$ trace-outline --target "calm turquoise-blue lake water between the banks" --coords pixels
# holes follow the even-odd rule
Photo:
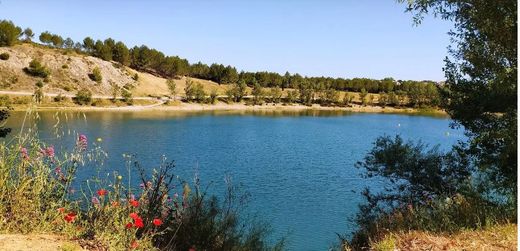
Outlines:
[[[126,173],[122,154],[128,153],[144,166],[156,166],[165,155],[181,176],[198,173],[216,191],[229,175],[250,193],[249,212],[270,222],[274,237],[286,236],[289,250],[327,250],[336,233],[355,228],[350,219],[362,202],[360,191],[377,184],[361,179],[354,164],[377,136],[400,134],[445,149],[463,137],[446,117],[399,114],[40,112],[40,134],[56,146],[57,117],[62,132],[103,139],[107,171]],[[14,113],[8,125],[16,129],[22,118]],[[75,138],[61,140],[70,145]]]

